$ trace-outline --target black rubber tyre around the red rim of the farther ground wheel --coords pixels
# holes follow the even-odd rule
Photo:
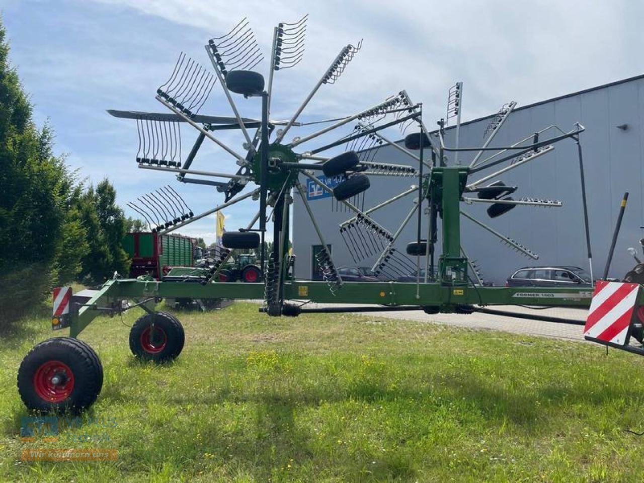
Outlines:
[[[167,337],[166,346],[155,354],[147,352],[141,345],[141,334],[153,320],[155,327],[164,330]],[[153,361],[155,363],[172,361],[181,354],[184,343],[184,327],[175,316],[167,312],[155,312],[154,314],[140,316],[129,331],[129,348],[135,357],[144,361]]]

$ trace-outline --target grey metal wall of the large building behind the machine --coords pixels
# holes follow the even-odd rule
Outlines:
[[[427,118],[426,114],[426,118]],[[610,276],[621,278],[634,261],[626,252],[627,247],[636,247],[644,233],[643,187],[643,117],[644,79],[609,84],[575,95],[560,97],[525,108],[517,108],[510,115],[492,146],[509,146],[516,140],[531,135],[551,124],[568,131],[575,122],[585,126],[582,147],[585,164],[587,195],[591,227],[594,276],[601,276],[611,243],[612,230],[618,215],[621,196],[629,191],[629,204],[621,227],[620,237],[612,261]],[[464,124],[460,129],[460,146],[480,146],[489,118]],[[428,122],[428,125],[430,123]],[[628,124],[626,130],[616,126]],[[556,135],[551,131],[551,135]],[[448,130],[446,145],[453,145],[453,130]],[[542,137],[543,139],[543,137]],[[462,164],[469,164],[473,155],[461,153]],[[400,164],[413,160],[393,149],[383,147],[377,153],[381,162]],[[478,179],[487,172],[473,175]],[[561,208],[518,206],[500,218],[490,220],[485,213],[485,204],[464,205],[462,209],[491,225],[497,231],[522,243],[540,254],[539,260],[531,260],[511,251],[497,238],[480,229],[469,220],[462,220],[462,243],[470,258],[478,261],[486,281],[496,285],[504,283],[514,270],[530,265],[578,265],[587,268],[583,234],[582,200],[576,146],[572,140],[556,144],[553,153],[544,155],[517,167],[498,179],[509,185],[518,185],[515,199],[524,197],[553,198],[563,202]],[[400,193],[417,181],[413,178],[372,176],[372,187],[366,192],[366,207],[378,204]],[[377,222],[390,231],[395,231],[412,207],[413,195],[403,198],[373,214]],[[332,245],[334,260],[338,266],[370,266],[375,258],[355,263],[348,253],[337,229],[338,223],[350,218],[351,213],[332,211],[330,198],[311,200],[316,220],[320,223],[327,243]],[[423,217],[423,233],[426,231]],[[294,251],[296,276],[311,277],[311,246],[317,236],[308,220],[301,201],[296,197],[294,205]],[[410,223],[399,239],[404,250],[407,242],[415,240],[415,222]],[[440,231],[439,231],[440,244]],[[640,251],[641,253],[641,251]]]

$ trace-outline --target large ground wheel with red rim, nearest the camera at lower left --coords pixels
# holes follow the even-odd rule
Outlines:
[[[40,412],[80,412],[94,403],[103,386],[103,368],[96,352],[71,337],[41,342],[18,370],[23,403]]]

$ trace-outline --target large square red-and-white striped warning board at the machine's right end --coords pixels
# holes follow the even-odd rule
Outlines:
[[[625,345],[639,287],[638,283],[598,280],[583,335],[598,341]]]

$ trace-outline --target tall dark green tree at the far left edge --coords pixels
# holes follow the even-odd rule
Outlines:
[[[0,313],[20,316],[51,288],[73,173],[52,154],[52,131],[37,129],[0,23]]]

